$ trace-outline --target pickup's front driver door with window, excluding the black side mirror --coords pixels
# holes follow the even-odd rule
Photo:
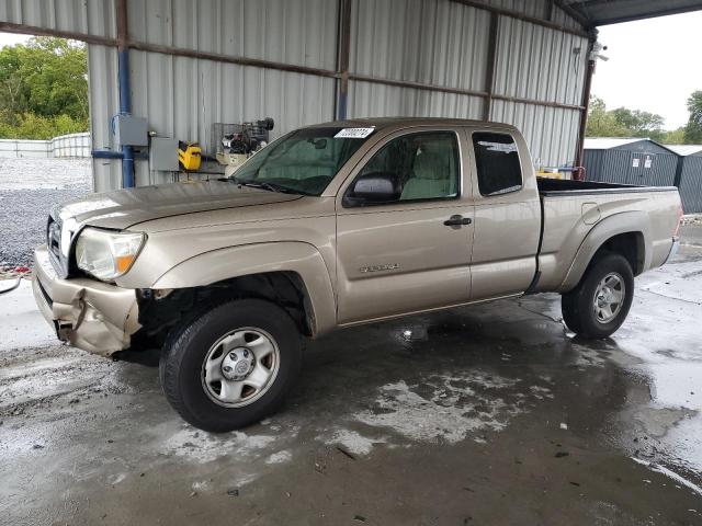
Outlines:
[[[474,206],[471,179],[463,176],[464,140],[460,128],[392,134],[341,186],[340,324],[468,301]],[[392,178],[401,188],[399,195],[384,203],[344,199],[356,178],[373,173]]]

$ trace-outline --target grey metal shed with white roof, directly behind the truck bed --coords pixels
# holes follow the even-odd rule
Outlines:
[[[584,165],[588,181],[672,186],[678,156],[650,139],[587,138]]]

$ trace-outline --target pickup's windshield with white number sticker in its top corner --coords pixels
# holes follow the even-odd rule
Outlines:
[[[234,179],[242,184],[319,195],[372,133],[373,128],[298,129],[256,153]]]

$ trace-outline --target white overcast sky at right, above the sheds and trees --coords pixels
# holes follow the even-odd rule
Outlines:
[[[667,129],[683,126],[688,96],[702,90],[702,12],[604,25],[599,32],[609,60],[598,60],[592,94],[609,110],[643,110],[661,115]]]

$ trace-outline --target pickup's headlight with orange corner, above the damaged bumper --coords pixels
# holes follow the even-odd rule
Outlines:
[[[76,242],[78,268],[98,279],[114,279],[129,270],[146,236],[86,228]]]

